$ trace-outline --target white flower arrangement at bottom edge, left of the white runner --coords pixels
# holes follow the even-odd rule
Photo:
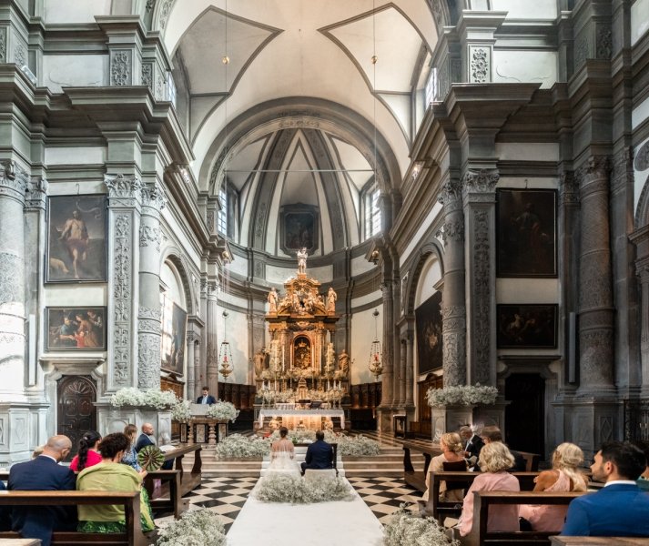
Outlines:
[[[207,508],[187,511],[157,531],[157,546],[225,546],[226,531],[217,514]]]

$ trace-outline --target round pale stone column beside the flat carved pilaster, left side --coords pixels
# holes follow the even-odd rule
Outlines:
[[[156,182],[142,187],[139,227],[139,307],[137,309],[137,387],[160,387],[160,210],[167,198]]]

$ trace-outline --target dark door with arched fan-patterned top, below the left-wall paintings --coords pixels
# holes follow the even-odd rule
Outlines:
[[[57,381],[58,422],[56,433],[72,440],[68,460],[76,455],[86,430],[96,430],[96,385],[87,376],[64,376]]]

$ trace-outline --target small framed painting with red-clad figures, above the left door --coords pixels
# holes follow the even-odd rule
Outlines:
[[[106,350],[106,308],[46,308],[46,350]]]

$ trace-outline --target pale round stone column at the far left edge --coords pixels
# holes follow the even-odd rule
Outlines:
[[[0,399],[4,402],[23,399],[25,394],[24,211],[27,183],[25,171],[13,161],[0,162]],[[8,423],[4,424],[8,435]]]

